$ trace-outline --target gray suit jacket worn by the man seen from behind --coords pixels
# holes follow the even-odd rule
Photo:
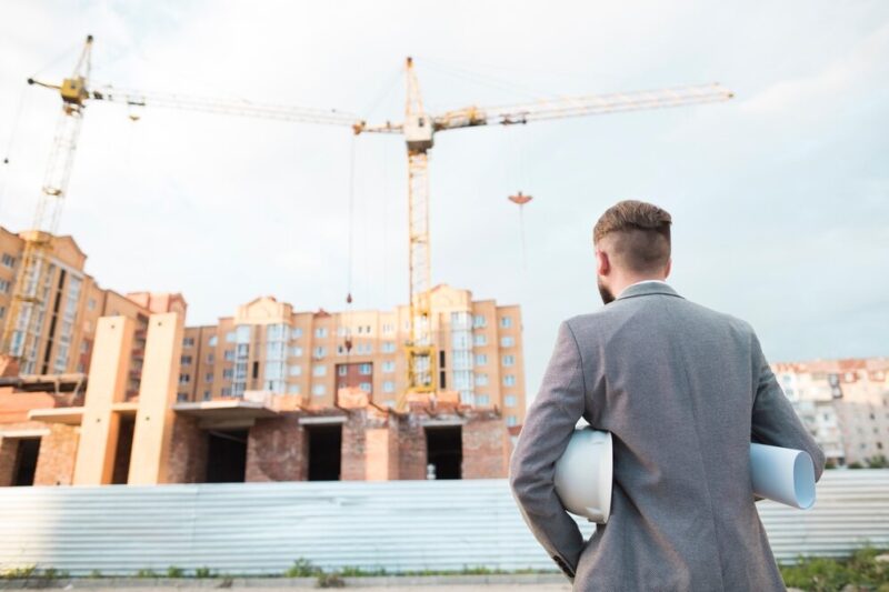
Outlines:
[[[611,432],[611,518],[583,541],[553,489],[583,417]],[[509,465],[531,532],[573,590],[783,590],[750,442],[825,456],[745,321],[639,283],[565,321]]]

